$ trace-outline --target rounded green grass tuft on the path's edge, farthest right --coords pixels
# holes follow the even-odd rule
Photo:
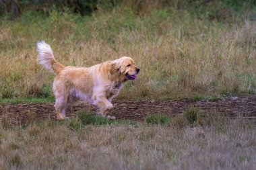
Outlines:
[[[183,114],[187,124],[190,126],[201,125],[206,122],[205,113],[199,110],[197,107],[189,107]]]

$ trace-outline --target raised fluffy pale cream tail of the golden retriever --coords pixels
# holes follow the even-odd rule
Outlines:
[[[40,65],[43,65],[53,74],[58,75],[64,69],[65,66],[55,60],[53,50],[49,44],[44,41],[37,42],[37,51]]]

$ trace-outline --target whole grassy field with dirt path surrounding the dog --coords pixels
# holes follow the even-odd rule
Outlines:
[[[0,169],[254,169],[255,2],[111,2],[15,19],[0,4]],[[131,56],[118,119],[79,102],[57,121],[38,40],[63,65]]]

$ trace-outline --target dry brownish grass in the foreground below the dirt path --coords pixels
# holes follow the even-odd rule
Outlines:
[[[77,120],[71,120],[77,121]],[[254,169],[249,120],[209,126],[86,125],[46,121],[0,128],[0,169]]]

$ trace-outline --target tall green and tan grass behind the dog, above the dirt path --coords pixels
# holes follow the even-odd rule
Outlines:
[[[63,65],[90,67],[119,56],[134,58],[141,72],[119,98],[256,93],[256,24],[251,17],[230,11],[228,17],[212,18],[210,7],[211,15],[199,15],[154,4],[140,15],[137,3],[127,4],[91,16],[51,10],[48,17],[25,11],[14,21],[2,19],[1,98],[53,95],[53,75],[36,61],[38,40],[51,44]]]

